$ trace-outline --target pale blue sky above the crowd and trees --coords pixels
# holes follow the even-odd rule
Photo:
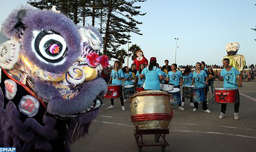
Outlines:
[[[0,23],[24,0],[1,1]],[[143,22],[138,25],[143,35],[131,33],[130,46],[137,44],[149,60],[154,56],[159,65],[164,60],[178,65],[205,61],[206,64],[221,65],[227,55],[226,45],[240,43],[237,54],[245,57],[246,65],[255,64],[256,1],[254,0],[147,0],[138,3],[145,16],[135,17]],[[127,50],[128,45],[120,49]],[[113,64],[113,62],[110,62]],[[129,60],[129,66],[132,60]],[[124,65],[127,65],[125,59]]]

